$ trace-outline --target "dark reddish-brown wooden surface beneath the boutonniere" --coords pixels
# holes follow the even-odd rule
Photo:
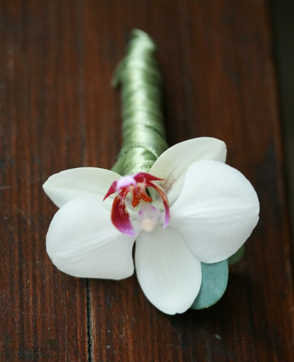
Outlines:
[[[52,173],[109,168],[120,148],[110,86],[132,28],[157,42],[170,145],[223,139],[261,220],[227,291],[169,316],[123,281],[69,277],[45,237]],[[290,362],[291,245],[269,4],[262,0],[0,2],[0,361]]]

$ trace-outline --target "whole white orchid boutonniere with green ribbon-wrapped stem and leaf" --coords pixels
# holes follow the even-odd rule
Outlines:
[[[152,39],[134,30],[116,70],[123,147],[113,169],[73,168],[44,184],[60,208],[46,243],[56,267],[75,277],[128,278],[135,262],[147,299],[175,314],[221,298],[227,259],[256,226],[259,201],[245,176],[225,164],[221,140],[168,148],[155,52]]]

